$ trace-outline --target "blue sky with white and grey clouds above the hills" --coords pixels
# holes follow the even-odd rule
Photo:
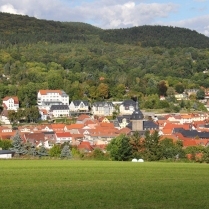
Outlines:
[[[0,11],[103,29],[175,26],[209,36],[209,0],[0,0]]]

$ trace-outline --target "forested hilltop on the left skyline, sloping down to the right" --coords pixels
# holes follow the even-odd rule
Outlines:
[[[101,29],[86,23],[39,20],[34,17],[0,12],[0,41],[17,43],[51,43],[86,40]]]

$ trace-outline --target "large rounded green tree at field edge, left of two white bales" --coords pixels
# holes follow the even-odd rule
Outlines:
[[[120,135],[108,144],[107,150],[110,152],[110,157],[113,160],[127,161],[132,158],[132,147],[129,143],[129,138],[125,135]]]

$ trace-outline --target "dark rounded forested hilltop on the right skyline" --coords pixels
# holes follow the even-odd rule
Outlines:
[[[101,39],[115,43],[140,44],[143,47],[161,46],[209,48],[209,37],[185,28],[168,26],[139,26],[103,31]]]

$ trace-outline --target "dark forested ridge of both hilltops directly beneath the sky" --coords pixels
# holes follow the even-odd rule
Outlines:
[[[101,41],[134,44],[142,47],[194,47],[209,48],[209,37],[185,28],[168,26],[139,26],[127,29],[102,30],[86,23],[56,22],[34,17],[0,13],[1,43],[66,43],[88,41],[99,37]]]

